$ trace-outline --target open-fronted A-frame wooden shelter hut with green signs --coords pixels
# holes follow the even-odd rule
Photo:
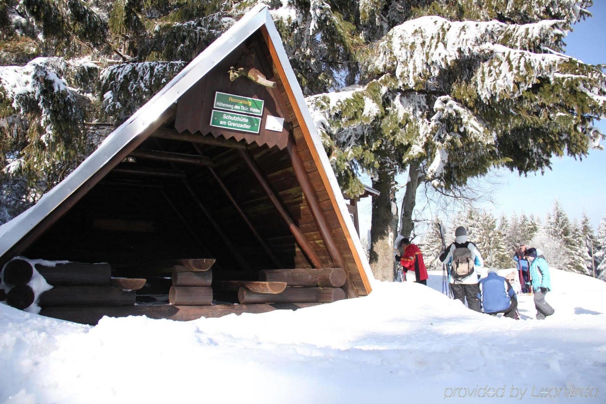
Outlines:
[[[292,309],[371,291],[365,252],[265,5],[3,231],[5,272],[27,267],[18,256],[70,261],[36,261],[55,286],[40,305],[82,323]]]

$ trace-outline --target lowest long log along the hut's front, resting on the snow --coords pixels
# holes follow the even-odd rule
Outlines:
[[[60,318],[70,322],[96,325],[101,317],[127,317],[129,315],[145,315],[148,318],[168,318],[170,320],[188,322],[201,317],[222,317],[228,314],[265,313],[274,310],[296,310],[322,303],[277,303],[273,305],[213,305],[213,306],[103,306],[81,308],[73,306],[43,308],[41,315]]]

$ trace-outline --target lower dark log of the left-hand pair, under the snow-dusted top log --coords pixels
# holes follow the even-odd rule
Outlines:
[[[135,291],[113,286],[55,286],[40,295],[40,307],[50,306],[133,306]]]

